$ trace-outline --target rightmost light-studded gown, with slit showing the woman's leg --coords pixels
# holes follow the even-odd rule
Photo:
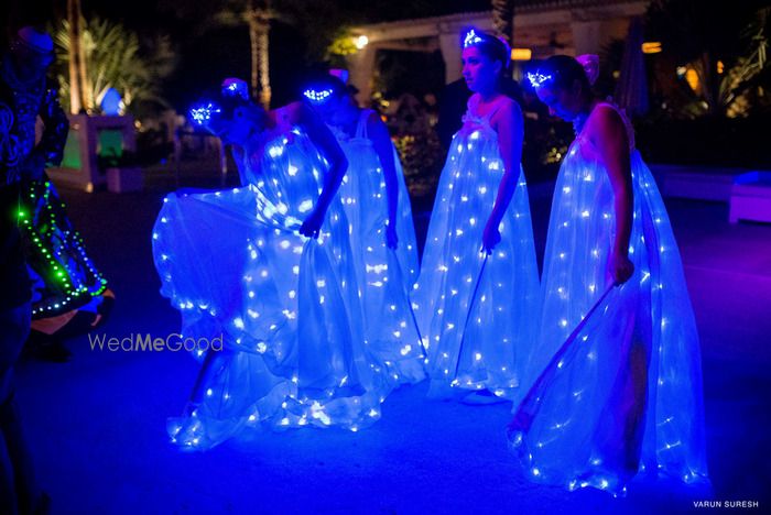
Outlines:
[[[631,169],[636,271],[621,287],[608,274],[613,193],[583,133],[560,171],[531,363],[537,381],[509,427],[512,448],[536,482],[621,494],[638,471],[706,481],[698,336],[683,266],[633,144]],[[608,288],[583,330],[563,344]]]

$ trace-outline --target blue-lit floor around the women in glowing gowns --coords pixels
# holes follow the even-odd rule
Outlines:
[[[534,188],[537,190],[537,188]],[[158,188],[141,195],[63,191],[117,293],[101,329],[164,336],[177,316],[158,294],[150,228]],[[547,200],[534,199],[543,246]],[[721,205],[673,201],[702,335],[709,465],[718,500],[765,501],[771,484],[771,227],[729,226]],[[19,398],[54,513],[673,513],[703,493],[632,487],[625,500],[530,484],[504,446],[509,406],[393,393],[358,434],[265,432],[248,449],[184,454],[165,418],[196,374],[183,353],[99,353],[69,342],[68,364],[25,362]]]

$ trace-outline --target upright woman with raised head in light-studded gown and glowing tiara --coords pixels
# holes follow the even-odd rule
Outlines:
[[[508,47],[475,30],[463,45],[474,95],[442,172],[413,300],[428,395],[491,403],[521,390],[537,265],[520,165],[522,112],[500,91]]]

